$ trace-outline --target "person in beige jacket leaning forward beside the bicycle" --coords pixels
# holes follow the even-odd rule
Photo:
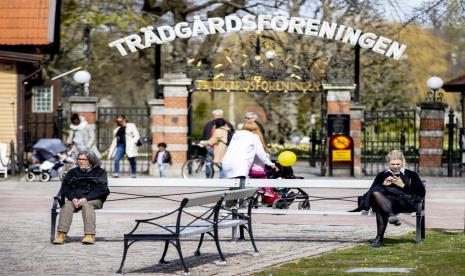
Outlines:
[[[208,140],[200,141],[200,144],[213,148],[213,162],[220,167],[233,134],[233,130],[229,128],[224,119],[215,119],[213,135]],[[220,178],[223,178],[223,169],[220,169]]]

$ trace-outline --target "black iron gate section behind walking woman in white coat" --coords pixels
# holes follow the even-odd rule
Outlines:
[[[99,107],[97,115],[97,141],[101,152],[108,151],[113,140],[113,129],[116,127],[116,116],[124,114],[129,122],[135,123],[142,141],[139,147],[137,173],[149,174],[152,157],[150,136],[150,108],[149,107]],[[102,158],[103,167],[107,172],[113,172],[114,160]],[[120,161],[120,174],[129,175],[130,166],[126,157]]]

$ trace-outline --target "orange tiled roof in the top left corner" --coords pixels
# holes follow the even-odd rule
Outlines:
[[[56,7],[56,0],[1,0],[0,45],[52,43]]]

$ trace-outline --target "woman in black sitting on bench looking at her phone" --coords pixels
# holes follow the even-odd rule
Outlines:
[[[384,232],[388,222],[395,226],[401,223],[395,214],[415,212],[416,205],[425,197],[425,186],[418,174],[405,169],[405,157],[400,150],[386,156],[388,170],[380,172],[368,195],[370,207],[376,212],[376,238],[372,247],[383,246]]]

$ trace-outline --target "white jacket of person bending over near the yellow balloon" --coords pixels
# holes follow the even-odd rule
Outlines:
[[[248,176],[255,157],[268,166],[273,164],[257,134],[247,130],[236,131],[222,162],[225,177]]]

